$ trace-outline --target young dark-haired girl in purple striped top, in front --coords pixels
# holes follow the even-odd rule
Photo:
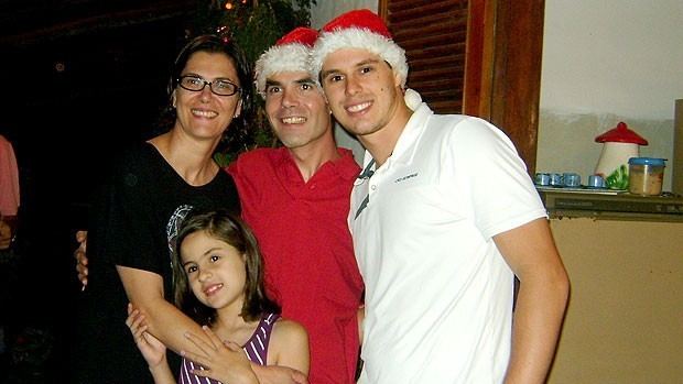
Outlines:
[[[261,255],[251,230],[225,211],[191,213],[172,256],[175,304],[203,328],[212,344],[187,333],[204,354],[182,352],[177,383],[258,383],[251,364],[308,373],[308,338],[280,317],[263,289]],[[165,347],[147,332],[144,315],[129,305],[126,323],[156,384],[176,383]]]

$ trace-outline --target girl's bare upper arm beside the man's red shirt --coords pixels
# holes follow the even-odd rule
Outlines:
[[[308,375],[308,333],[302,325],[282,318],[275,322],[268,347],[268,365],[289,366]]]

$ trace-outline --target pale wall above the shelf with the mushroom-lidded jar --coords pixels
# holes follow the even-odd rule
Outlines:
[[[641,155],[672,160],[683,1],[546,0],[544,25],[536,172],[587,178],[603,146],[595,136],[619,121],[650,142]]]

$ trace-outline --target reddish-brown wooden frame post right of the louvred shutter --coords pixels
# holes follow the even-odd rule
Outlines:
[[[387,20],[390,0],[379,0]],[[514,142],[535,171],[544,0],[469,0],[463,113],[481,117]]]

